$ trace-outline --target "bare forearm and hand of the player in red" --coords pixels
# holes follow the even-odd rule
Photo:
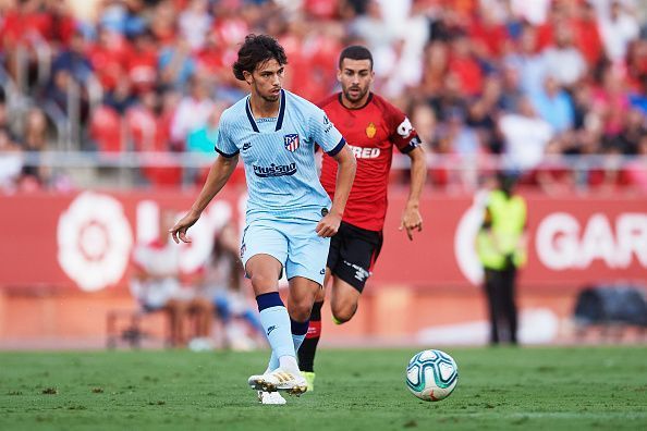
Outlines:
[[[400,221],[400,230],[406,230],[406,236],[413,241],[414,231],[423,230],[420,216],[420,195],[427,180],[427,160],[422,146],[417,146],[406,153],[411,159],[411,188],[408,199]]]

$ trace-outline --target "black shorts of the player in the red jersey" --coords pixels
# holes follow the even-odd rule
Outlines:
[[[341,222],[337,235],[330,239],[327,267],[359,293],[382,249],[382,233],[367,231]]]

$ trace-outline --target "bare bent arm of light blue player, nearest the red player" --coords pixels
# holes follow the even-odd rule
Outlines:
[[[347,145],[344,145],[332,158],[338,163],[334,198],[330,211],[319,221],[316,227],[317,234],[324,237],[333,236],[339,230],[355,180],[355,170],[357,169],[355,156],[353,156]]]

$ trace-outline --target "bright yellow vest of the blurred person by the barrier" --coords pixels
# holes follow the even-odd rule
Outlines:
[[[526,202],[521,196],[508,198],[501,190],[490,193],[488,209],[490,229],[481,229],[476,238],[478,257],[484,267],[503,269],[505,256],[512,255],[515,267],[526,262],[526,251],[518,247],[526,224]]]

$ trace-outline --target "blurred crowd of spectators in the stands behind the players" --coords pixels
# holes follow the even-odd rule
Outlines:
[[[222,110],[246,90],[231,73],[237,47],[267,33],[288,53],[284,86],[313,101],[338,88],[340,50],[366,45],[375,90],[428,146],[434,186],[475,187],[501,155],[547,192],[645,189],[645,159],[634,156],[647,156],[646,9],[639,0],[0,0],[0,187],[69,186],[23,164],[21,151],[211,155]],[[147,167],[141,176],[176,185],[204,172]]]

